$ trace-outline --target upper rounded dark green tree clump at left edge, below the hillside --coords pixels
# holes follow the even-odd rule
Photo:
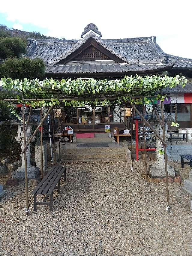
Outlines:
[[[0,58],[20,57],[26,53],[26,44],[20,38],[0,38]]]

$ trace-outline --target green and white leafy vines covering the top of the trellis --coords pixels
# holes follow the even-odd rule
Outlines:
[[[77,98],[64,99],[65,106],[85,106],[85,104],[100,104],[100,105],[114,105],[123,104],[128,99],[135,104],[142,104],[142,98],[156,92],[160,88],[174,87],[178,84],[184,86],[187,80],[183,76],[125,76],[121,80],[95,80],[95,79],[11,79],[2,77],[0,86],[8,91],[16,91],[23,93],[25,98],[42,99],[41,101],[33,101],[32,106],[52,106],[59,104],[59,100],[55,97],[54,91],[57,91],[63,98]],[[116,95],[116,99],[111,101],[109,95]],[[106,99],[101,101],[100,95],[106,95]],[[133,96],[137,96],[138,99],[133,99]],[[140,98],[141,97],[141,98]],[[20,96],[17,96],[18,102],[22,102]],[[87,99],[81,100],[82,98]],[[159,97],[163,100],[165,96]],[[50,100],[47,100],[50,99]],[[144,100],[145,100],[144,99]]]

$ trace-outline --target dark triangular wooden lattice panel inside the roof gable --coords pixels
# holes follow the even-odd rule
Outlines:
[[[74,60],[110,60],[110,58],[108,56],[106,56],[104,53],[102,53],[100,50],[98,50],[97,48],[95,48],[93,45],[90,45],[89,47],[87,47],[84,51],[82,51],[81,53],[79,53],[79,55],[77,55]]]

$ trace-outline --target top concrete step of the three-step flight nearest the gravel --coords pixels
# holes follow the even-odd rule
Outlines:
[[[75,148],[60,148],[61,155],[63,154],[79,154],[79,153],[124,153],[124,147],[75,147]]]

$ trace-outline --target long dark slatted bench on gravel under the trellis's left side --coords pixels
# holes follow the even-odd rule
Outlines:
[[[49,205],[49,211],[53,210],[53,190],[58,189],[61,192],[61,177],[66,181],[66,167],[61,165],[54,165],[46,176],[39,182],[37,187],[33,190],[33,210],[37,211],[37,205]],[[43,202],[37,202],[37,194],[46,195]],[[49,197],[49,202],[47,198]]]

